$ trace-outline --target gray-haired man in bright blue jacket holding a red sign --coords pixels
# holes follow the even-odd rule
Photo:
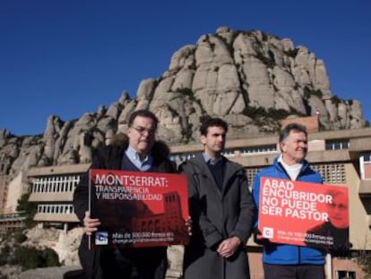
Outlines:
[[[296,123],[285,126],[280,132],[280,156],[272,166],[255,175],[253,195],[259,207],[260,179],[290,179],[322,183],[321,175],[309,167],[306,161],[306,127]],[[272,243],[264,239],[264,278],[324,279],[324,251],[317,248]]]

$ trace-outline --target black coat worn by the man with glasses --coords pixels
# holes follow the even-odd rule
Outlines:
[[[123,170],[122,158],[128,145],[128,138],[126,135],[116,137],[115,142],[111,145],[105,146],[94,155],[91,163],[91,169],[103,170]],[[169,154],[168,146],[162,142],[156,142],[151,150],[153,156],[153,167],[158,172],[174,173],[176,171],[175,165],[168,161]],[[76,187],[73,193],[73,207],[75,214],[83,222],[85,212],[89,208],[89,172],[87,172]],[[94,196],[94,195],[93,195]],[[91,201],[91,207],[94,207],[94,199]],[[99,247],[89,249],[89,238],[86,234],[82,236],[82,242],[79,248],[79,257],[82,263],[86,278],[88,279],[137,279],[137,278],[151,278],[163,279],[165,278],[167,268],[167,252],[166,248],[126,248],[125,253],[128,254],[131,261],[134,261],[136,266],[143,270],[154,270],[151,275],[138,277],[135,274],[125,275],[125,262],[122,268],[124,270],[117,270],[113,265],[115,260],[115,251],[112,248]],[[126,256],[125,256],[126,257]],[[135,259],[135,260],[134,260]],[[126,259],[127,260],[127,259]]]

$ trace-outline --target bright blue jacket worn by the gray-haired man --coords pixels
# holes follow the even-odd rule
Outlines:
[[[283,169],[278,158],[273,161],[272,166],[259,171],[255,175],[253,184],[253,196],[257,208],[259,208],[260,179],[262,177],[289,179],[289,175]],[[297,180],[323,183],[321,175],[312,170],[307,161],[303,162],[303,168]],[[263,245],[263,262],[272,265],[324,265],[324,251],[311,247],[268,242]]]

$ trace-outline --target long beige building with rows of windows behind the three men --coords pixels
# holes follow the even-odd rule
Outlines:
[[[306,121],[316,121],[316,118]],[[371,250],[371,129],[320,131],[315,123],[309,123],[313,128],[308,136],[307,160],[323,175],[325,184],[349,187],[349,240],[353,247],[347,255],[327,256],[327,278],[362,278],[356,257]],[[280,153],[277,141],[278,135],[246,135],[229,140],[225,156],[244,165],[252,181],[255,173],[272,164]],[[171,159],[180,163],[202,150],[201,144],[172,146]],[[72,206],[73,189],[88,167],[83,164],[29,170],[30,201],[38,203],[35,221],[60,224],[65,230],[77,225]],[[263,278],[262,248],[251,239],[247,246],[251,278]],[[173,277],[181,276],[182,248],[176,250],[170,253]]]

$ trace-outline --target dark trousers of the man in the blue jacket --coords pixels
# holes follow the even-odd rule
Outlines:
[[[324,279],[324,266],[263,264],[264,279]]]

